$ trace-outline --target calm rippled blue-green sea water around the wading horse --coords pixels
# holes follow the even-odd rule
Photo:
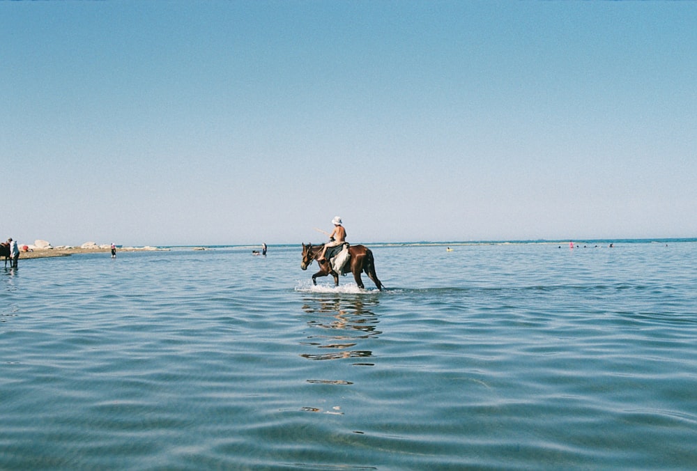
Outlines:
[[[0,468],[694,468],[697,242],[614,245],[20,258]]]

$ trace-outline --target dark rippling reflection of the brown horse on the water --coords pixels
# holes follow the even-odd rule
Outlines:
[[[307,321],[313,334],[302,345],[328,349],[322,353],[304,353],[308,360],[339,360],[342,358],[367,358],[372,350],[360,349],[365,343],[377,339],[382,332],[376,329],[378,316],[371,308],[378,304],[377,298],[365,300],[355,298],[307,299],[302,307],[307,314],[317,315]],[[358,348],[356,348],[358,347]],[[372,365],[372,363],[354,363]]]

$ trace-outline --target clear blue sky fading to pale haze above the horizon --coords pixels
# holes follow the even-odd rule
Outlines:
[[[0,2],[0,238],[697,236],[697,2]]]

